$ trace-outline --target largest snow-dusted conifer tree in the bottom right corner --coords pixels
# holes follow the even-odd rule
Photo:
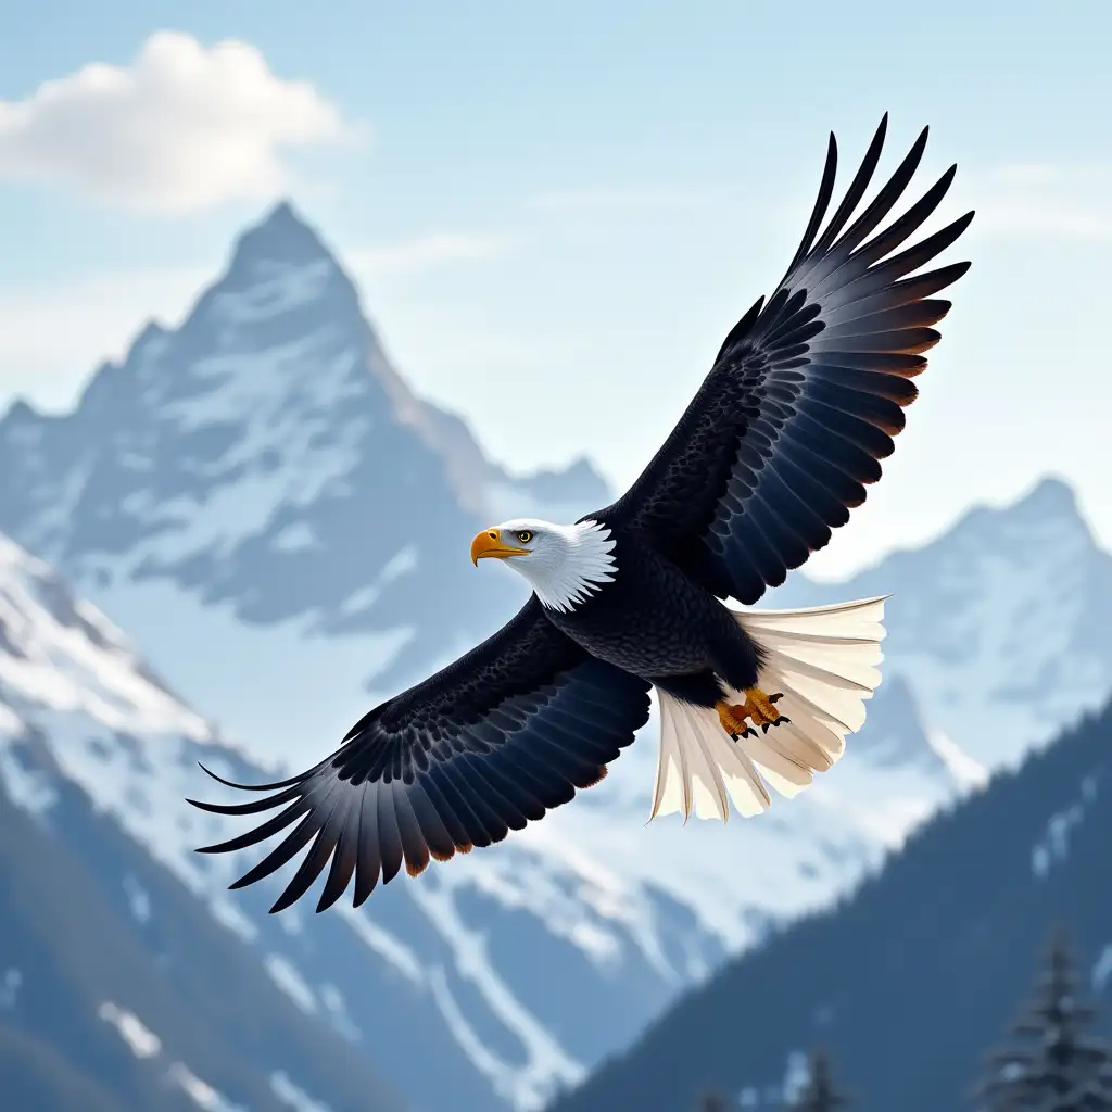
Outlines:
[[[1078,996],[1059,930],[1034,997],[1012,1025],[1017,1043],[990,1055],[977,1089],[985,1112],[1112,1112],[1112,1045],[1085,1033],[1094,1016]]]

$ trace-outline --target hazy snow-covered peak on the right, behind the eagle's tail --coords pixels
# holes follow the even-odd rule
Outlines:
[[[834,587],[796,576],[770,605],[872,594],[893,596],[886,679],[909,682],[940,747],[989,767],[1014,766],[1112,691],[1112,556],[1059,479]]]

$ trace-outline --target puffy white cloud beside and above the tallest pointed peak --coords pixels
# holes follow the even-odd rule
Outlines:
[[[158,31],[130,67],[91,63],[0,101],[0,178],[188,212],[288,187],[289,153],[357,130],[252,46]]]

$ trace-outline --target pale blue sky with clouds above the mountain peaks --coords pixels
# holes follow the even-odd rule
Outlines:
[[[885,166],[923,123],[923,188],[959,162],[946,215],[979,216],[947,258],[974,268],[814,568],[1048,473],[1112,547],[1106,3],[113,0],[4,23],[0,404],[68,405],[288,195],[418,391],[513,468],[587,453],[622,485],[783,272],[827,131],[847,172],[888,110]],[[214,61],[229,39],[257,53]]]

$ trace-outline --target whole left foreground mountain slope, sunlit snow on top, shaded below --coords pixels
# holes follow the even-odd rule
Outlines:
[[[399,1109],[191,877],[121,828],[122,807],[131,833],[172,824],[158,781],[206,752],[216,738],[116,632],[0,543],[0,1055],[24,1062],[3,1071],[6,1098],[279,1112],[297,1089],[318,1108]]]

